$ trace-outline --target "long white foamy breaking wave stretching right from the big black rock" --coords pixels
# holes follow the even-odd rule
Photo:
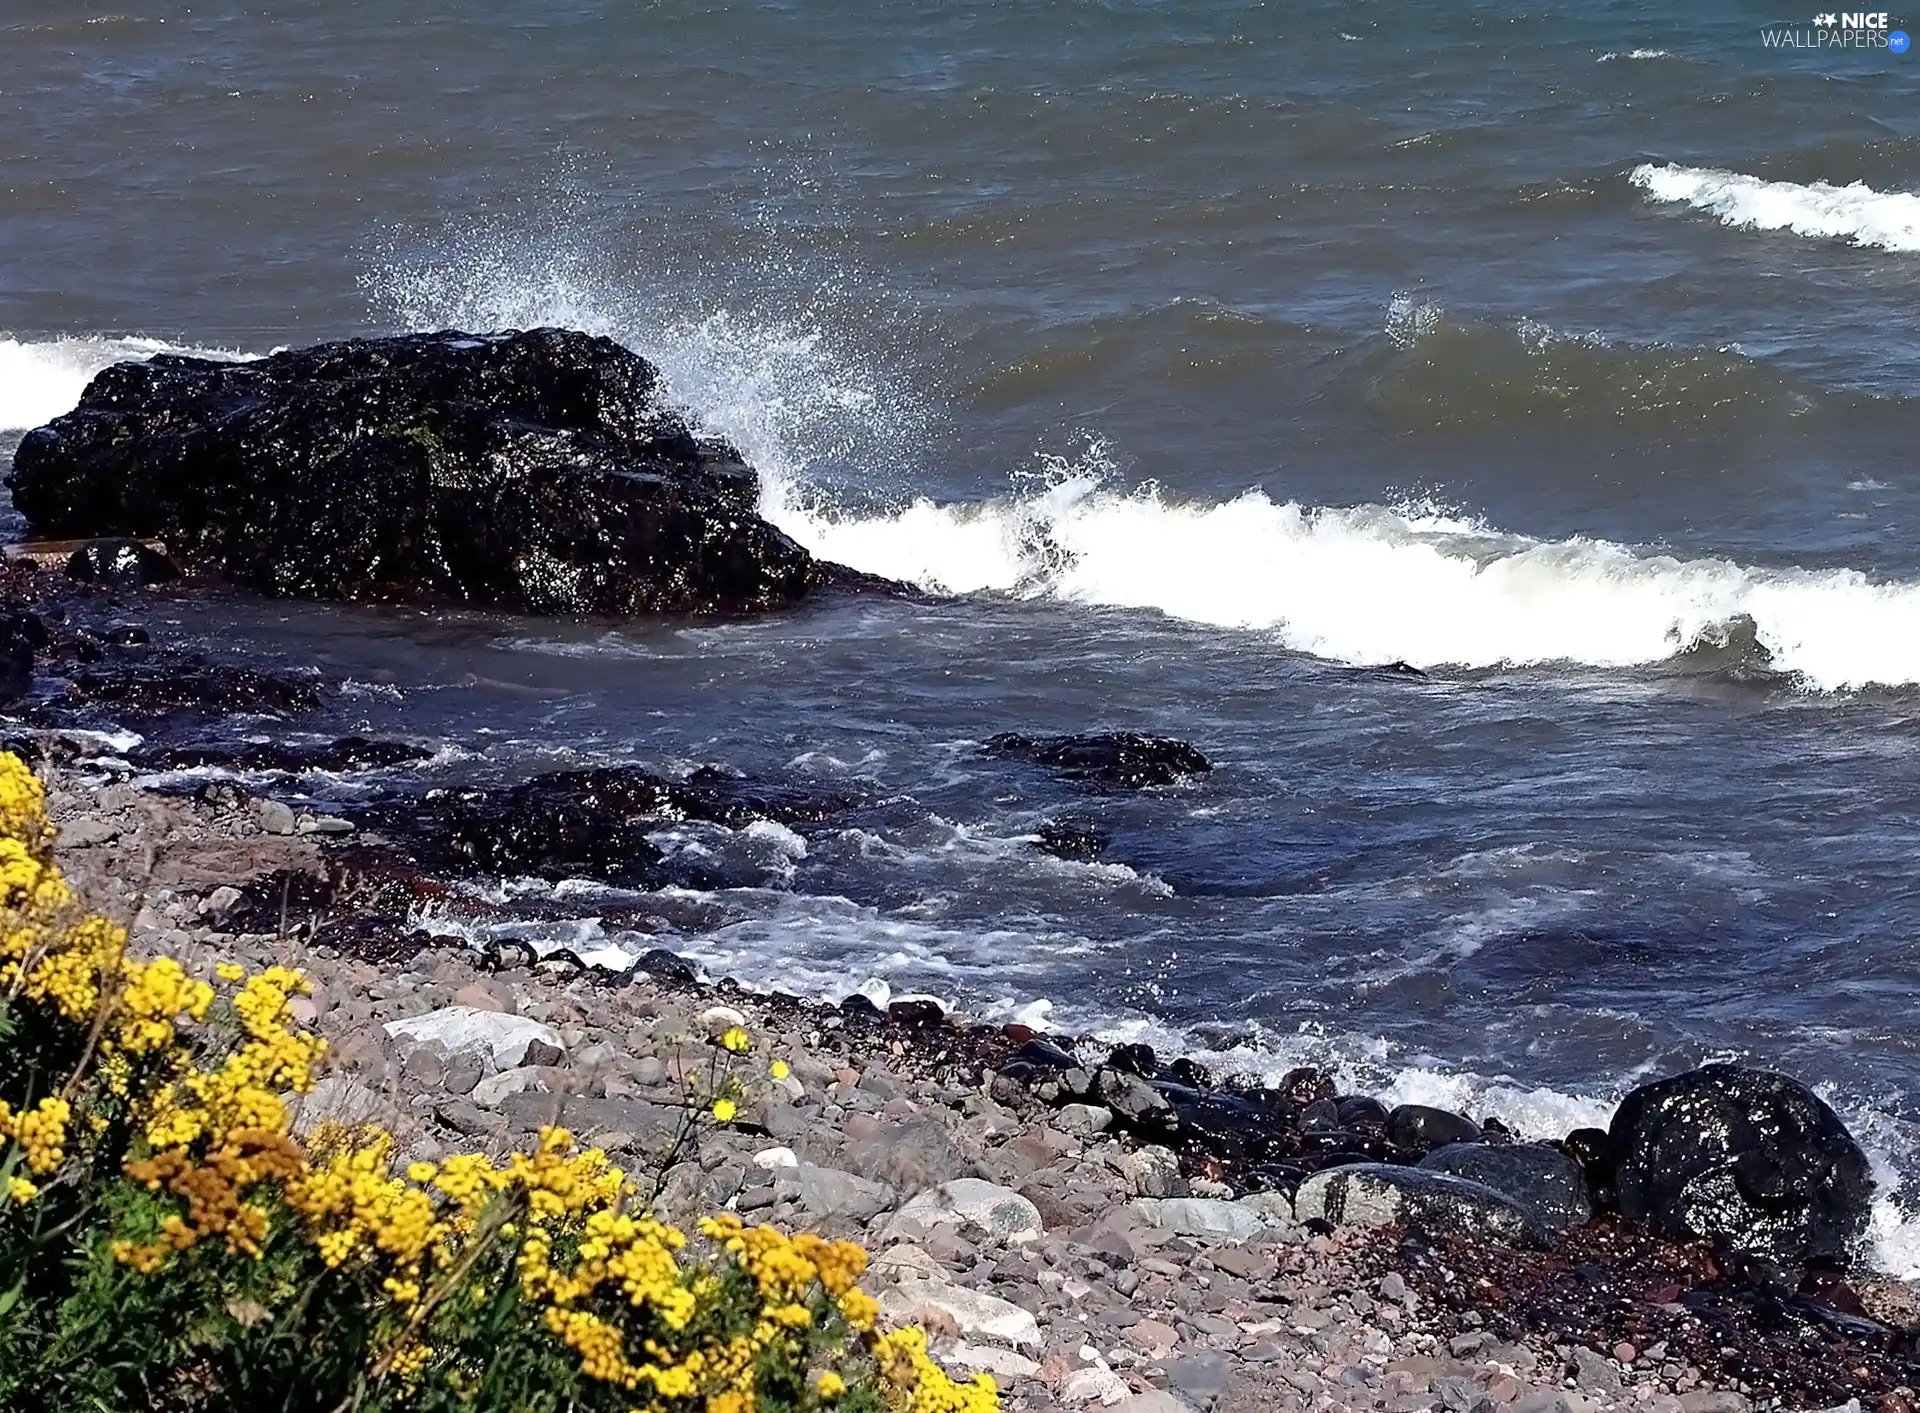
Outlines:
[[[764,513],[828,559],[933,591],[1152,609],[1338,662],[1649,666],[1751,620],[1772,666],[1814,689],[1920,682],[1920,584],[1532,539],[1428,507],[1181,503],[1079,468],[1025,497],[879,516],[770,482]]]

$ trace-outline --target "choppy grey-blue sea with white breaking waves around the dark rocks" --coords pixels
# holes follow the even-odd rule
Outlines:
[[[797,538],[958,597],[171,632],[346,676],[323,726],[447,741],[440,779],[868,791],[860,827],[666,841],[741,881],[685,900],[714,970],[1315,1058],[1538,1129],[1743,1054],[1893,1179],[1920,58],[1761,40],[1801,23],[15,0],[0,451],[157,347],[609,332]],[[1116,799],[975,754],[1089,726],[1217,770]],[[1035,850],[1048,818],[1108,862]],[[568,897],[553,935],[605,941]],[[1895,1204],[1882,1246],[1920,1265]]]

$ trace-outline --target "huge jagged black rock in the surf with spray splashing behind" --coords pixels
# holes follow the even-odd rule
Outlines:
[[[48,536],[157,536],[303,599],[515,612],[739,612],[826,584],[758,478],[666,407],[651,363],[559,328],[349,340],[96,376],[13,455]],[[119,561],[102,555],[109,580]]]

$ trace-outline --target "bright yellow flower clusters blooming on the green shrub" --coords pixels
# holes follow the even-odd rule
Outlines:
[[[313,1087],[326,1050],[292,1018],[305,977],[278,966],[250,977],[223,964],[209,985],[175,958],[127,958],[123,929],[75,916],[48,843],[40,783],[0,753],[0,1012],[38,1008],[69,1027],[83,1069],[92,1066],[84,1085],[67,1085],[71,1102],[0,1100],[0,1171],[10,1173],[0,1223],[40,1194],[33,1177],[61,1169],[77,1146],[131,1133],[117,1165],[157,1209],[148,1208],[140,1240],[109,1242],[113,1257],[154,1273],[202,1259],[207,1242],[215,1256],[259,1259],[278,1229],[276,1250],[292,1244],[367,1292],[376,1378],[470,1384],[470,1355],[457,1353],[463,1336],[445,1309],[459,1305],[449,1292],[461,1281],[499,1279],[474,1275],[492,1271],[507,1273],[528,1329],[572,1350],[588,1378],[630,1394],[634,1413],[758,1413],[770,1371],[806,1377],[806,1409],[876,1380],[893,1413],[998,1409],[993,1380],[950,1380],[920,1330],[877,1332],[877,1304],[858,1286],[858,1244],[720,1213],[701,1223],[716,1259],[687,1259],[685,1234],[637,1208],[626,1175],[564,1129],[543,1129],[532,1152],[457,1154],[401,1173],[394,1137],[378,1129],[323,1131],[301,1144],[286,1094]],[[205,1058],[223,1033],[209,1025],[223,994],[238,1037]],[[753,1048],[741,1027],[714,1039],[726,1064]],[[770,1073],[785,1079],[787,1066]],[[705,1108],[730,1121],[741,1092],[730,1083]]]

